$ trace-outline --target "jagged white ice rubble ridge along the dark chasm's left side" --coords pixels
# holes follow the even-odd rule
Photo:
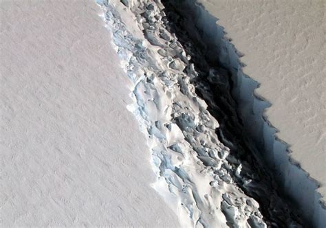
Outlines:
[[[177,210],[182,225],[276,225],[280,219],[263,218],[259,203],[243,192],[261,192],[260,188],[265,186],[247,172],[248,164],[241,163],[221,143],[219,137],[223,133],[217,137],[219,123],[207,111],[206,102],[198,97],[191,83],[199,72],[175,34],[169,32],[164,5],[146,0],[129,3],[133,13],[130,17],[137,21],[136,29],[142,30],[143,39],[127,29],[126,19],[116,10],[115,4],[120,3],[98,0],[98,4],[121,65],[133,82],[134,104],[128,109],[148,137],[157,174],[153,187]],[[192,43],[188,45],[189,51]],[[283,223],[299,227],[279,198],[270,197],[275,198],[274,206],[283,214]]]

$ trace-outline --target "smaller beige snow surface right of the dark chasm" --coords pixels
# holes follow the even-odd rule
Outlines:
[[[298,161],[326,194],[325,1],[201,0],[244,56],[243,73]]]

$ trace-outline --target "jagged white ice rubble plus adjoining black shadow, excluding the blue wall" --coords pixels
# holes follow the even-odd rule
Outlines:
[[[129,3],[143,38],[129,32],[115,1],[98,3],[133,82],[135,103],[128,108],[148,137],[157,174],[153,187],[177,207],[183,225],[300,227],[254,148],[243,142],[228,71],[211,67],[200,52],[204,44],[180,33],[181,14],[164,11],[171,2]]]

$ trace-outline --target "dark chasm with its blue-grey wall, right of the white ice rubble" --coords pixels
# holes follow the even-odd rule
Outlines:
[[[238,144],[237,155],[241,147],[245,156],[253,152],[254,159],[260,163],[257,169],[272,173],[272,180],[277,184],[274,188],[282,201],[287,202],[293,211],[295,209],[307,226],[325,227],[325,203],[316,192],[318,183],[292,161],[288,145],[275,137],[276,129],[263,116],[270,103],[254,94],[259,84],[243,75],[239,53],[224,36],[224,28],[217,25],[217,19],[194,0],[162,2],[171,15],[168,14],[168,21],[172,22],[178,40],[186,43],[190,38],[195,43],[193,47],[197,50],[189,53],[195,52],[192,59],[200,62],[197,68],[202,71],[202,77],[194,84],[197,94],[208,104],[208,111],[219,120],[219,130],[227,138],[224,144],[228,146],[228,141]],[[209,89],[203,91],[203,84]],[[262,202],[261,205],[266,204]]]

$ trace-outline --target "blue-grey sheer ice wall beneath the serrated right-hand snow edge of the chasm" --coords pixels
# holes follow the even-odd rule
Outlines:
[[[322,198],[316,192],[318,183],[310,179],[309,174],[292,161],[287,144],[275,137],[276,129],[263,115],[270,104],[254,93],[259,84],[243,74],[241,70],[243,65],[239,61],[241,54],[226,38],[224,28],[219,27],[216,24],[217,19],[203,7],[195,4],[194,0],[173,2],[173,7],[187,21],[183,27],[185,30],[190,30],[188,35],[195,36],[195,39],[200,39],[200,42],[204,43],[206,47],[203,52],[204,57],[210,62],[219,62],[221,69],[230,72],[229,84],[232,87],[230,91],[239,106],[237,113],[241,119],[246,119],[242,123],[246,135],[249,139],[253,139],[250,141],[257,148],[256,155],[268,166],[268,170],[272,170],[274,180],[284,194],[283,197],[290,199],[292,207],[298,210],[298,214],[306,223],[314,227],[325,227],[325,203],[320,202]],[[187,24],[190,26],[186,27]],[[195,34],[192,31],[193,27],[196,27],[200,34]],[[221,81],[216,76],[215,79]]]

